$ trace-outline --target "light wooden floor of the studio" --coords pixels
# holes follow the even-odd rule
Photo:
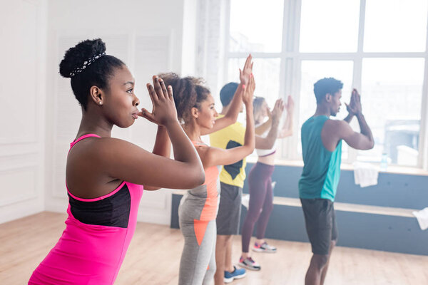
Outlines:
[[[0,284],[26,284],[64,229],[65,214],[43,212],[0,224]],[[270,240],[276,254],[255,253],[262,270],[232,284],[303,284],[310,244]],[[183,237],[178,229],[138,223],[116,284],[177,284]],[[240,237],[234,238],[234,261]],[[337,247],[326,285],[428,284],[428,257]]]

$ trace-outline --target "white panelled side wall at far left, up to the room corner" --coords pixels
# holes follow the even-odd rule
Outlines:
[[[46,1],[0,4],[0,223],[44,209]]]

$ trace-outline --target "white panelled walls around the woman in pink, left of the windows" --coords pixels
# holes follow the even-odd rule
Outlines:
[[[0,3],[0,223],[44,210],[66,212],[66,155],[81,110],[58,74],[65,51],[103,38],[125,61],[142,107],[146,83],[165,71],[195,72],[196,0],[17,0]],[[113,136],[151,150],[156,126],[137,120]],[[161,170],[159,170],[161,171]],[[169,224],[170,192],[145,192],[138,219]]]

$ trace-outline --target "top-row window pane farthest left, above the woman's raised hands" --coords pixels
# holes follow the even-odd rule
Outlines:
[[[283,0],[231,0],[229,51],[280,52]]]

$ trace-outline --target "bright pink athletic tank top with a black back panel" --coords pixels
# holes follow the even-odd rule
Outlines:
[[[71,142],[71,147],[88,137]],[[66,229],[29,284],[113,284],[136,229],[143,186],[123,181],[93,199],[68,191]]]

